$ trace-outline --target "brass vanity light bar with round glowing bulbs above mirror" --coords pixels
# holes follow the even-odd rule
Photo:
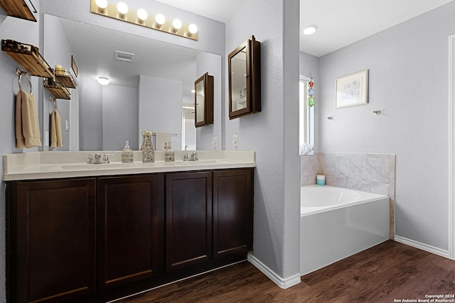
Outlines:
[[[165,19],[160,13],[156,15],[158,17],[158,23],[155,21],[156,16],[149,15],[144,9],[139,9],[138,11],[126,9],[126,13],[120,13],[117,10],[117,4],[107,4],[106,6],[107,1],[101,1],[104,2],[104,4],[102,4],[102,6],[98,6],[97,0],[90,1],[90,11],[92,13],[96,13],[97,15],[114,18],[119,21],[136,24],[138,26],[144,26],[146,28],[162,31],[164,33],[171,33],[173,35],[178,35],[191,40],[198,40],[198,28],[194,24],[182,23],[178,19]],[[98,0],[98,2],[100,2],[100,0]]]

